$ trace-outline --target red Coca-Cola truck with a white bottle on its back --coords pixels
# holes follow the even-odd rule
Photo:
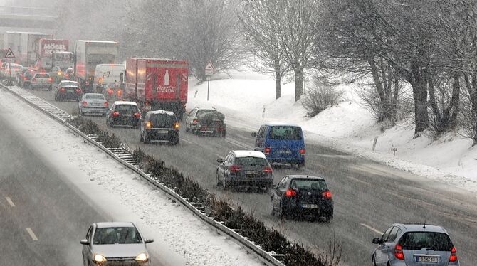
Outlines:
[[[182,118],[187,103],[189,64],[160,58],[127,58],[125,98],[142,112],[167,110]]]

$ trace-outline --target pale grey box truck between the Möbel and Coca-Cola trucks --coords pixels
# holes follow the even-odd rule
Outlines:
[[[93,91],[96,65],[116,63],[118,53],[115,41],[76,41],[74,75],[84,92]]]

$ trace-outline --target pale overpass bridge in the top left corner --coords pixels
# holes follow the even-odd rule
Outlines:
[[[54,33],[57,16],[51,9],[0,6],[0,33],[5,31],[41,31]]]

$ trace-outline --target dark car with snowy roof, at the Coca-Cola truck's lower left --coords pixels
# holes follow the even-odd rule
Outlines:
[[[109,127],[125,126],[136,128],[141,123],[141,112],[135,102],[116,101],[112,104],[106,124]]]

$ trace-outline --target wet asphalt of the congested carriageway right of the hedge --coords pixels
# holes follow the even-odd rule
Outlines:
[[[55,102],[52,92],[34,91],[53,105],[78,113],[77,102]],[[286,174],[325,177],[332,188],[335,218],[331,223],[287,220],[271,216],[269,193],[222,191],[216,187],[216,159],[233,149],[251,149],[251,132],[228,124],[226,139],[202,137],[181,131],[176,147],[140,143],[138,129],[105,126],[105,117],[91,117],[103,129],[114,132],[132,148],[141,147],[167,164],[199,181],[217,195],[243,208],[310,247],[326,251],[336,238],[342,244],[344,265],[369,265],[378,237],[392,223],[442,225],[449,231],[461,265],[477,262],[477,196],[458,188],[436,183],[406,171],[376,164],[350,154],[306,143],[306,166],[302,170],[275,168],[275,183]]]

